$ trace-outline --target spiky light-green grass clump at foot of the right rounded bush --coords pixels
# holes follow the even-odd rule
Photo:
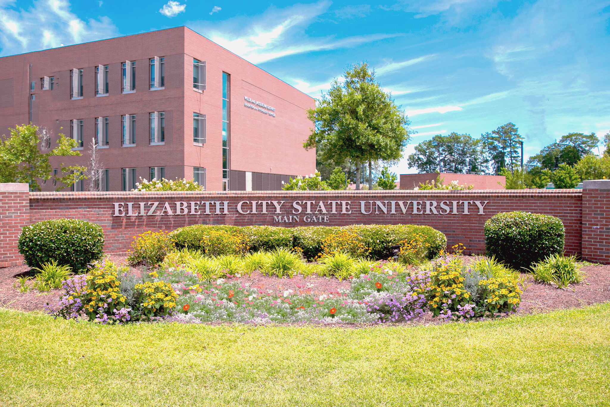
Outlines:
[[[580,265],[576,262],[576,256],[564,257],[561,253],[552,254],[534,265],[532,273],[534,281],[555,283],[557,288],[584,281],[584,275],[580,271]]]

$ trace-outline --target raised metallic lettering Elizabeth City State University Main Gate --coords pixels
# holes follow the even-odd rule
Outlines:
[[[115,202],[113,216],[273,215],[273,222],[329,222],[329,215],[484,215],[489,201]],[[236,215],[237,215],[236,214]]]

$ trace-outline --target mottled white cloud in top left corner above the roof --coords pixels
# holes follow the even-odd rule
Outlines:
[[[0,55],[4,56],[117,35],[108,17],[81,20],[66,0],[38,0],[27,11],[5,6],[0,12]]]

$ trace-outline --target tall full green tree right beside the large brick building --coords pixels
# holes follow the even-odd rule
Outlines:
[[[392,95],[375,81],[368,64],[356,63],[334,79],[326,95],[316,100],[307,117],[315,128],[303,144],[320,148],[324,162],[350,160],[356,167],[356,187],[360,187],[361,163],[368,164],[368,186],[373,187],[373,162],[393,163],[403,157],[409,142],[409,120],[394,103]]]

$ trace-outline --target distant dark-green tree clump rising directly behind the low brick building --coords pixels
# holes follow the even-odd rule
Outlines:
[[[417,167],[420,173],[484,173],[487,161],[481,146],[481,140],[470,134],[437,134],[415,146],[415,153],[409,155],[409,167]]]

